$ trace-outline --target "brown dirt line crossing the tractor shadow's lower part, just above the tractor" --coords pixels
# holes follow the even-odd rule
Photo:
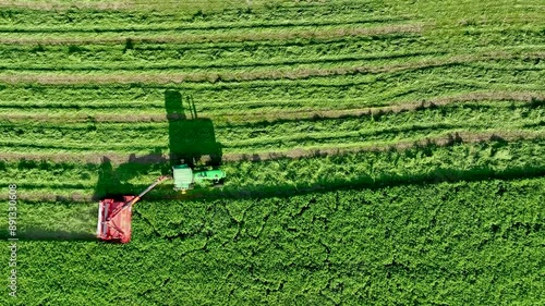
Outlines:
[[[528,132],[528,131],[487,131],[487,132],[456,132],[448,133],[441,136],[424,137],[417,140],[401,140],[395,144],[379,144],[379,145],[365,145],[358,147],[317,147],[313,149],[291,149],[286,151],[270,151],[270,152],[255,152],[255,154],[226,154],[222,156],[225,162],[233,162],[241,160],[275,160],[283,158],[307,158],[315,156],[337,156],[349,152],[364,152],[364,151],[388,151],[388,150],[407,150],[421,146],[448,146],[453,143],[481,143],[495,139],[504,139],[506,142],[521,140],[521,139],[542,139],[545,138],[545,132]],[[19,161],[35,160],[35,161],[53,161],[53,162],[74,162],[74,163],[93,163],[99,164],[102,159],[107,158],[112,164],[120,164],[124,162],[135,163],[158,163],[168,162],[169,159],[166,155],[150,154],[146,156],[135,155],[121,155],[119,152],[104,152],[104,154],[23,154],[23,152],[0,152],[0,160],[3,161]]]

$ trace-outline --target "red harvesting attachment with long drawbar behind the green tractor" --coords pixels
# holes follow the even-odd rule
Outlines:
[[[113,241],[120,243],[128,243],[131,241],[131,218],[133,205],[157,184],[167,179],[170,178],[160,176],[140,195],[123,196],[122,201],[111,198],[100,200],[98,203],[97,237],[101,241]]]

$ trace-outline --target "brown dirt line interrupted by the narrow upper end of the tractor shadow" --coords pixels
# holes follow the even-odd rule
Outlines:
[[[456,96],[447,97],[436,97],[422,99],[420,101],[407,101],[392,106],[385,107],[370,107],[360,109],[343,109],[343,110],[282,110],[281,113],[276,112],[249,112],[241,113],[222,113],[220,115],[208,117],[216,123],[228,122],[232,124],[237,123],[249,123],[249,122],[261,122],[261,121],[276,121],[276,120],[305,120],[305,119],[338,119],[343,117],[360,117],[377,113],[399,113],[403,111],[414,111],[417,109],[425,109],[432,107],[447,106],[450,103],[462,103],[462,102],[474,102],[482,100],[498,100],[498,101],[520,101],[520,102],[531,102],[533,99],[545,100],[545,91],[471,91],[464,93]],[[206,113],[201,114],[202,118],[207,118]],[[85,115],[85,114],[66,114],[66,115],[49,115],[49,114],[0,114],[0,120],[17,121],[17,120],[33,120],[40,122],[167,122],[166,114],[131,114],[122,115],[119,114],[98,114],[98,115]]]

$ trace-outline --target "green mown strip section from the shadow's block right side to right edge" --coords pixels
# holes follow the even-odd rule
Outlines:
[[[472,106],[476,106],[473,103]],[[240,124],[217,127],[218,139],[225,152],[245,152],[264,148],[289,149],[293,147],[343,146],[351,143],[387,142],[395,138],[429,137],[452,131],[485,131],[486,128],[526,128],[540,126],[544,109],[535,109],[523,120],[513,117],[526,108],[443,108],[429,112],[404,112],[395,115],[378,113],[341,120],[316,119],[275,123]],[[497,111],[496,111],[497,110]],[[426,115],[424,115],[426,114]],[[423,117],[424,115],[424,117]],[[475,117],[477,121],[473,120]],[[299,122],[299,124],[296,124]],[[270,128],[270,130],[269,130]],[[312,130],[310,130],[312,128]],[[240,137],[229,137],[240,135]]]

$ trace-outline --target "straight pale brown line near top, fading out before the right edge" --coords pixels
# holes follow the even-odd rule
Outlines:
[[[92,44],[125,44],[128,39],[133,42],[150,44],[199,44],[199,42],[241,42],[241,41],[263,41],[263,40],[288,40],[288,39],[330,39],[350,36],[372,36],[396,33],[421,33],[424,29],[423,23],[385,25],[365,28],[338,28],[338,29],[299,29],[287,32],[255,32],[255,33],[216,33],[216,34],[184,34],[174,36],[143,36],[138,34],[123,37],[85,37],[85,38],[55,38],[55,37],[0,37],[0,44],[19,45],[92,45]]]

